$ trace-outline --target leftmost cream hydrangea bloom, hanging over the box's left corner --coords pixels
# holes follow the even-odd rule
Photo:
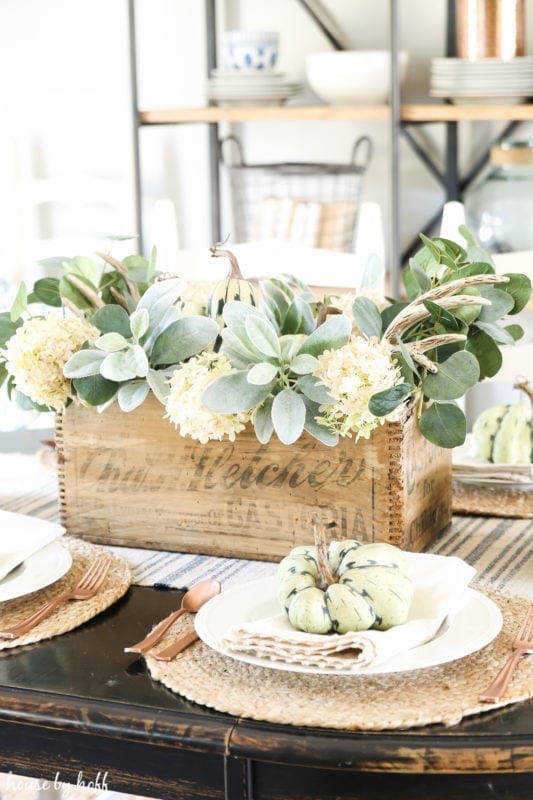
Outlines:
[[[50,312],[32,317],[8,340],[2,357],[16,388],[39,405],[62,411],[72,398],[63,367],[87,340],[100,332],[80,317]]]

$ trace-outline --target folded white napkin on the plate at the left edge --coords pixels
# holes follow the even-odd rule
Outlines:
[[[0,509],[0,581],[64,533],[55,522]]]

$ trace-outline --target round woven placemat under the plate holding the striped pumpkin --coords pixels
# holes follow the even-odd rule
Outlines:
[[[526,598],[484,591],[503,614],[498,637],[478,653],[429,669],[371,676],[306,675],[245,664],[220,655],[203,642],[174,661],[160,662],[147,655],[146,663],[152,677],[172,691],[238,717],[341,730],[455,725],[465,716],[533,696],[533,659],[523,658],[500,702],[478,700],[509,654],[531,603]],[[158,649],[190,627],[190,622],[180,620]]]

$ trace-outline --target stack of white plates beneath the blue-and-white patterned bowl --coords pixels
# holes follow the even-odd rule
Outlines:
[[[207,82],[208,98],[217,105],[279,105],[301,90],[283,72],[214,69]]]

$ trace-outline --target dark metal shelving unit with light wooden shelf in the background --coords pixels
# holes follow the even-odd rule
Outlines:
[[[130,58],[132,75],[132,109],[134,119],[134,159],[135,183],[137,197],[141,195],[140,167],[139,167],[139,130],[143,127],[157,125],[189,125],[204,124],[209,128],[209,165],[211,185],[211,228],[213,235],[220,228],[219,209],[219,147],[218,125],[220,123],[250,123],[250,122],[357,122],[357,121],[383,121],[390,129],[390,177],[391,177],[391,270],[393,273],[393,289],[398,293],[399,274],[402,262],[411,254],[413,248],[418,246],[416,237],[404,253],[400,252],[400,208],[402,205],[400,173],[399,173],[399,142],[403,139],[411,146],[413,151],[425,163],[434,178],[441,184],[446,200],[459,199],[464,188],[475,179],[488,159],[488,149],[481,153],[477,162],[472,166],[469,174],[461,177],[458,173],[458,124],[461,122],[500,122],[503,134],[509,135],[518,124],[533,122],[533,102],[517,103],[513,105],[480,105],[480,104],[453,104],[445,101],[411,101],[404,102],[400,97],[399,76],[397,69],[399,51],[399,0],[389,0],[390,16],[390,52],[391,52],[391,96],[387,105],[365,106],[328,106],[328,105],[285,105],[285,106],[198,106],[193,108],[157,108],[139,109],[137,103],[136,81],[136,46],[134,2],[128,0],[130,20]],[[312,8],[306,0],[301,4],[312,14]],[[447,53],[453,55],[455,3],[446,0],[448,30]],[[207,74],[216,66],[216,14],[215,0],[205,0],[206,4],[206,39],[207,39]],[[332,37],[331,31],[322,28],[331,43],[337,49],[342,49],[339,42]],[[441,123],[446,127],[446,141],[443,147],[443,165],[433,160],[423,145],[417,141],[410,128],[424,124]],[[438,222],[439,214],[428,220],[425,231],[430,234]],[[142,243],[142,221],[140,203],[137,202],[137,221]],[[215,236],[216,238],[216,236]]]

